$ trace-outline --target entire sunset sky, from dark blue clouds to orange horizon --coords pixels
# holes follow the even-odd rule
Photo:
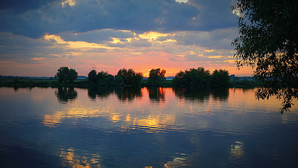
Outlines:
[[[235,0],[14,0],[0,2],[0,75],[87,76],[133,68],[166,76],[205,67],[236,70]]]

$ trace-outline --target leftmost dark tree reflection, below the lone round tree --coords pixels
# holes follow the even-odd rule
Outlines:
[[[77,91],[73,87],[58,87],[55,95],[60,103],[67,103],[77,98]]]

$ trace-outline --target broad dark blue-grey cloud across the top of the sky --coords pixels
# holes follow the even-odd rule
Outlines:
[[[44,34],[65,32],[82,33],[92,30],[132,30],[142,33],[158,31],[214,30],[218,27],[234,27],[235,15],[227,1],[191,1],[191,4],[175,0],[84,0],[70,6],[61,1],[26,1],[18,6],[9,3],[0,10],[0,31],[12,32],[30,38]],[[20,2],[21,3],[21,2]],[[16,13],[14,11],[23,11]],[[220,16],[218,16],[220,14]],[[233,21],[230,21],[233,17]],[[65,38],[77,40],[71,36]],[[110,40],[109,37],[99,39]]]

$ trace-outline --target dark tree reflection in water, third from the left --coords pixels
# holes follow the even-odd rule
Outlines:
[[[133,101],[143,97],[141,87],[115,87],[115,93],[120,101]]]

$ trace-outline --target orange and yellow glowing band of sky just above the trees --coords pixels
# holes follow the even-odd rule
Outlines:
[[[117,31],[127,31],[128,30],[117,30]],[[40,67],[40,66],[51,66],[49,69],[51,69],[51,74],[55,73],[56,69],[53,67],[58,66],[75,66],[75,69],[78,71],[79,75],[87,75],[88,72],[91,69],[97,69],[100,70],[107,70],[112,75],[115,75],[117,73],[117,68],[133,68],[137,72],[141,71],[144,73],[144,76],[146,77],[149,71],[148,67],[151,65],[152,68],[161,68],[167,70],[166,76],[173,76],[176,73],[178,73],[180,70],[186,70],[189,68],[196,68],[196,67],[205,67],[205,69],[226,69],[229,70],[230,74],[235,74],[237,76],[251,76],[252,75],[252,69],[251,68],[242,68],[240,71],[236,70],[235,67],[235,59],[231,59],[233,56],[219,56],[218,54],[221,54],[221,51],[212,49],[212,50],[204,50],[204,48],[200,48],[199,51],[209,52],[209,56],[205,55],[204,52],[199,52],[195,47],[189,47],[188,46],[181,46],[178,45],[177,47],[183,47],[186,49],[181,49],[184,51],[180,51],[176,47],[177,44],[174,44],[172,42],[175,42],[175,40],[167,39],[163,42],[161,41],[155,41],[158,37],[164,37],[167,35],[173,36],[174,34],[169,33],[157,33],[157,32],[146,32],[144,34],[135,34],[134,38],[126,38],[127,41],[121,41],[121,38],[114,38],[112,42],[107,42],[103,44],[97,44],[97,43],[88,43],[85,41],[64,41],[62,37],[57,35],[45,35],[44,40],[49,40],[54,44],[55,46],[49,46],[50,49],[58,49],[60,54],[57,54],[57,52],[54,52],[55,54],[48,54],[47,56],[32,56],[30,59],[32,62],[34,60],[34,64],[30,64],[25,62],[19,62],[18,59],[15,59],[15,61],[10,62],[4,62],[0,61],[1,67]],[[141,38],[145,38],[148,41],[151,41],[152,46],[151,47],[133,47],[133,45],[128,45],[127,47],[124,45],[124,47],[108,47],[109,44],[129,44],[134,40],[133,42],[136,42],[135,40]],[[142,39],[141,39],[142,40]],[[106,44],[109,43],[109,44]],[[162,44],[164,43],[164,44]],[[163,47],[168,47],[166,51],[163,51]],[[172,49],[171,48],[177,48]],[[98,48],[99,50],[94,50],[94,48]],[[102,52],[101,50],[102,49]],[[108,50],[107,50],[108,49]],[[177,51],[176,51],[177,50]],[[214,55],[211,53],[213,52]],[[233,51],[225,51],[224,53],[234,53]],[[214,60],[205,60],[205,61],[189,61],[186,59],[185,56],[187,54],[193,55],[192,57],[198,56],[198,57],[205,57],[205,58],[221,58],[222,61],[216,61]],[[194,55],[195,54],[195,55]],[[72,55],[72,57],[68,56]],[[55,57],[53,57],[55,56]],[[75,57],[73,57],[75,56]],[[136,57],[140,58],[136,58]],[[63,59],[63,60],[62,60]],[[61,61],[58,61],[61,60]],[[114,61],[114,62],[113,62]],[[100,62],[100,64],[98,64]],[[112,63],[113,62],[113,63]],[[38,63],[38,64],[37,64]],[[58,64],[57,64],[58,63]],[[63,64],[64,63],[64,64]],[[164,66],[166,65],[166,66]],[[95,68],[94,68],[95,67]],[[147,67],[147,68],[144,68]],[[151,68],[151,69],[152,69]],[[2,68],[4,70],[4,68]],[[118,69],[118,70],[119,70]],[[138,70],[139,69],[139,70]],[[55,71],[54,71],[55,70]],[[88,71],[89,70],[89,71]],[[88,71],[88,72],[87,72]],[[27,73],[32,73],[31,71],[27,70]],[[44,72],[41,71],[35,71],[40,72],[43,75],[41,76],[47,76],[44,74]],[[14,72],[16,73],[16,72]],[[241,75],[238,75],[238,74]],[[4,74],[2,74],[4,75]],[[19,74],[17,74],[19,75]],[[19,75],[20,76],[20,75]],[[38,76],[38,75],[35,75]]]

